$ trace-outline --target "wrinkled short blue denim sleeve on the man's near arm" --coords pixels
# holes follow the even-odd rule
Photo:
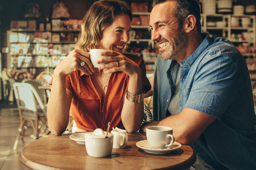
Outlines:
[[[188,98],[184,108],[220,120],[229,103],[237,97],[238,80],[237,66],[230,57],[209,56],[198,65],[192,88],[184,90],[184,98]]]

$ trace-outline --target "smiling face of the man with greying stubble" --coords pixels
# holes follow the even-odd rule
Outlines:
[[[174,5],[174,1],[157,4],[150,14],[151,40],[159,45],[163,60],[182,60],[179,54],[187,44],[187,35],[182,26],[179,27],[178,18],[173,16]]]

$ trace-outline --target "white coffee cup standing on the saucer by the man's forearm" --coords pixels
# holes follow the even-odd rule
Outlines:
[[[146,129],[147,140],[153,148],[167,148],[174,142],[172,128],[166,126],[149,126]]]

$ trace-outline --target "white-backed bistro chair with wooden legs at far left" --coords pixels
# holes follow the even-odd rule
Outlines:
[[[41,97],[36,89],[29,83],[14,83],[14,95],[17,102],[17,107],[20,115],[20,126],[18,134],[13,145],[13,150],[16,150],[20,138],[30,137],[31,135],[24,135],[27,129],[27,123],[30,122],[33,128],[33,138],[39,138],[39,131],[42,127],[47,128],[46,105],[43,104]],[[45,132],[45,129],[43,129]]]

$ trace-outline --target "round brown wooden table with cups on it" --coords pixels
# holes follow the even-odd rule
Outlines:
[[[196,160],[192,148],[182,145],[169,154],[150,154],[136,146],[146,133],[128,133],[126,148],[115,149],[108,157],[90,157],[85,145],[69,138],[70,134],[39,138],[27,144],[20,161],[30,169],[187,169]]]

